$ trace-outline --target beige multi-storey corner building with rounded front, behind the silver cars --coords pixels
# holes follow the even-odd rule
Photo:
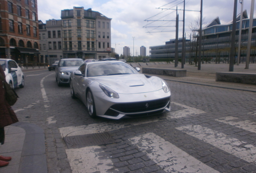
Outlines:
[[[111,18],[83,7],[62,10],[63,58],[107,58],[111,53]]]

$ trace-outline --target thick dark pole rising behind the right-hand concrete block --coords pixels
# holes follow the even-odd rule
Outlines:
[[[230,48],[229,71],[234,71],[236,12],[237,12],[237,0],[234,0],[234,13],[233,13],[233,25],[232,25],[232,32],[231,32],[231,48]]]

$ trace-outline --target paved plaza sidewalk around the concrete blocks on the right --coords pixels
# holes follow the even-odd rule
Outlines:
[[[250,72],[256,74],[256,63],[249,64],[249,69],[245,69],[246,64],[234,65],[234,72]],[[173,77],[164,75],[149,74],[151,76],[159,76],[164,80],[171,80],[176,82],[185,82],[191,84],[200,84],[211,87],[220,87],[226,89],[236,89],[242,91],[252,91],[256,92],[256,85],[252,84],[242,84],[233,82],[217,82],[215,81],[216,72],[228,72],[229,64],[201,64],[201,70],[195,65],[185,64],[184,68],[181,68],[181,64],[178,67],[174,67],[174,63],[171,64],[158,64],[152,65],[151,67],[156,68],[172,68],[172,69],[184,69],[187,70],[186,77]],[[140,67],[142,68],[142,67]]]

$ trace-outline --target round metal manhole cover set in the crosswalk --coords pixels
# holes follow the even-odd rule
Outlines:
[[[65,141],[68,148],[81,148],[114,143],[115,139],[113,139],[107,132],[102,132],[88,135],[67,136],[65,137]]]

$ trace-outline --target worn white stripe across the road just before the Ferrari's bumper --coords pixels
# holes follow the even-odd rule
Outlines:
[[[174,103],[174,104],[184,107],[186,109],[167,113],[166,114],[167,119],[175,119],[175,118],[205,113],[204,111],[201,111],[196,108],[188,107],[188,106],[182,105],[180,103]],[[99,124],[91,124],[91,125],[83,125],[83,126],[62,127],[59,130],[60,130],[60,134],[62,135],[62,137],[66,137],[67,135],[69,135],[69,136],[87,135],[87,134],[99,133],[99,132],[103,132],[103,131],[111,131],[111,130],[115,130],[115,129],[121,129],[124,127],[130,127],[130,126],[141,125],[141,124],[145,124],[145,123],[152,123],[152,122],[157,122],[157,121],[161,121],[161,119],[159,120],[159,118],[156,116],[156,117],[152,117],[150,120],[134,119],[134,121],[129,121],[129,123],[118,123],[118,124],[117,123],[99,123]]]

